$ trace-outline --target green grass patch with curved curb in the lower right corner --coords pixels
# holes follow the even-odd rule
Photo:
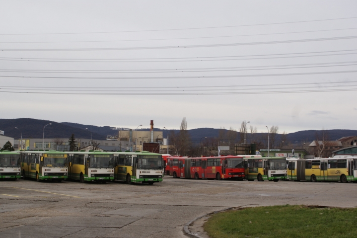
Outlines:
[[[214,214],[204,229],[211,238],[356,238],[357,209],[246,208]]]

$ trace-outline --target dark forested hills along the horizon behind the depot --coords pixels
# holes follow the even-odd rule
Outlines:
[[[20,138],[20,131],[22,132],[22,138],[42,138],[43,137],[43,127],[49,123],[45,128],[46,138],[70,138],[73,133],[75,138],[90,138],[90,133],[92,133],[92,138],[94,140],[105,140],[107,135],[118,135],[117,130],[111,130],[110,126],[93,126],[93,125],[83,125],[78,123],[70,122],[54,122],[46,120],[37,120],[31,118],[18,118],[18,119],[0,119],[0,130],[5,132],[5,136],[12,138]],[[17,127],[19,130],[15,129]],[[85,128],[88,128],[86,130]],[[147,131],[149,129],[141,129]],[[154,130],[163,131],[164,138],[167,137],[167,131],[160,128],[154,128]],[[216,138],[218,137],[218,132],[220,129],[214,128],[197,128],[189,130],[191,140],[195,143],[200,143],[202,138]],[[178,130],[173,130],[178,132]],[[225,132],[227,130],[224,130]],[[321,131],[308,130],[308,131],[298,131],[294,133],[287,134],[287,140],[292,143],[297,142],[310,142],[316,139],[316,133]],[[357,136],[357,130],[325,130],[329,135],[329,140],[337,140],[344,136]],[[265,133],[266,134],[266,133]],[[259,138],[261,133],[257,134]],[[250,134],[246,134],[249,140]],[[240,139],[240,133],[237,132],[237,140]],[[277,138],[280,139],[280,136]]]

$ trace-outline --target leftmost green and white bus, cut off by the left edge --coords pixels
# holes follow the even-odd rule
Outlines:
[[[0,178],[20,178],[20,154],[13,151],[0,152]]]

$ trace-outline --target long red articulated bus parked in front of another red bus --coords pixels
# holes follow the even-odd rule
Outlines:
[[[184,178],[244,178],[243,157],[169,157],[170,175]]]

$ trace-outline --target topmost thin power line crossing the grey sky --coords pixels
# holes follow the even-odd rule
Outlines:
[[[232,25],[232,26],[210,26],[210,27],[194,27],[194,28],[175,28],[175,29],[159,29],[159,30],[136,30],[136,31],[99,31],[99,32],[72,32],[72,33],[15,33],[15,34],[0,34],[0,35],[64,35],[64,34],[101,34],[101,33],[124,33],[124,32],[149,32],[149,31],[176,31],[176,30],[198,30],[198,29],[215,29],[215,28],[230,28],[230,27],[242,27],[242,26],[262,26],[262,25],[278,25],[278,24],[291,24],[291,23],[303,23],[303,22],[316,22],[316,21],[332,21],[332,20],[344,20],[354,19],[354,17],[343,18],[330,18],[319,20],[306,20],[306,21],[287,21],[277,23],[262,23],[262,24],[247,24],[247,25]]]

